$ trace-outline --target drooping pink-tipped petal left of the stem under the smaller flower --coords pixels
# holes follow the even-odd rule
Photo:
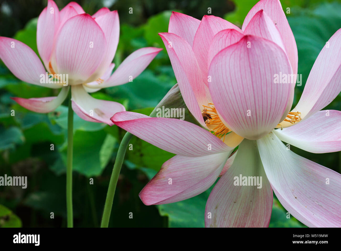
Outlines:
[[[20,104],[20,106],[25,107],[26,109],[39,112],[39,113],[47,113],[54,111],[57,107],[61,105],[61,103],[65,100],[69,93],[69,86],[61,88],[60,93],[57,97],[44,97],[44,98],[18,98],[13,97],[12,99]]]

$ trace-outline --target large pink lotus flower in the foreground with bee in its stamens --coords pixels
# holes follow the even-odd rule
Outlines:
[[[309,227],[341,226],[341,175],[288,150],[341,150],[341,112],[320,111],[341,90],[341,29],[324,47],[295,109],[296,43],[278,0],[261,0],[242,29],[215,16],[173,13],[160,33],[190,112],[202,125],[119,112],[112,121],[177,154],[140,192],[146,205],[173,203],[208,189],[206,227],[267,227],[273,193]],[[280,129],[275,129],[280,128]],[[210,130],[211,132],[209,132]],[[233,149],[238,151],[231,157]],[[228,158],[229,157],[229,158]],[[262,177],[261,186],[235,183]],[[172,179],[172,184],[168,184]]]

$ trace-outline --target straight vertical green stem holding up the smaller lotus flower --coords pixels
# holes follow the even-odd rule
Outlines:
[[[72,209],[72,155],[73,155],[73,110],[71,107],[71,95],[68,111],[68,156],[66,160],[66,211],[68,214],[68,227],[73,227]]]

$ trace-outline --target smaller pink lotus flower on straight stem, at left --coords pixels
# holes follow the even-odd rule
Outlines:
[[[102,8],[90,16],[75,2],[59,11],[54,1],[48,0],[37,24],[37,47],[44,65],[30,47],[12,38],[0,37],[0,58],[18,79],[61,91],[57,97],[13,99],[31,111],[47,113],[64,101],[71,86],[72,108],[79,117],[113,125],[109,118],[125,111],[123,105],[92,98],[88,93],[132,81],[161,50],[141,48],[112,74],[119,31],[117,11]],[[46,72],[57,74],[54,76],[60,81],[44,81]],[[63,74],[68,75],[67,84],[62,82]]]

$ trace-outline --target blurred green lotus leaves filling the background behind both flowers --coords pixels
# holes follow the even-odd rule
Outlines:
[[[9,2],[9,6],[13,7],[15,2]],[[38,53],[35,17],[45,7],[46,1],[17,2],[21,7],[12,8],[11,15],[1,14],[0,33],[2,36],[13,36]],[[56,1],[60,8],[67,2]],[[207,14],[207,8],[211,7],[213,15],[224,17],[240,26],[247,12],[257,1],[77,2],[90,14],[100,9],[104,2],[108,5],[111,3],[109,6],[111,10],[119,10],[120,41],[114,58],[117,68],[125,57],[138,48],[145,46],[164,48],[158,33],[168,31],[172,10],[201,19]],[[302,86],[295,90],[295,106],[318,53],[330,36],[341,28],[341,4],[320,3],[316,0],[281,2],[284,9],[291,8],[287,18],[297,43],[298,73],[303,77]],[[29,3],[33,9],[25,7]],[[131,6],[134,8],[134,14],[129,15],[128,8]],[[21,15],[24,13],[27,15],[19,18],[18,9]],[[8,27],[4,27],[3,20],[6,20]],[[19,28],[21,29],[18,30]],[[175,83],[168,55],[163,50],[133,82],[105,88],[91,95],[99,99],[121,102],[130,111],[150,114]],[[27,189],[0,187],[0,227],[65,226],[67,103],[49,114],[33,113],[20,107],[10,97],[54,96],[57,94],[56,90],[21,82],[2,62],[0,88],[0,175],[6,173],[9,176],[28,177]],[[339,95],[327,108],[341,110],[340,98]],[[12,111],[15,112],[15,116],[11,116]],[[86,122],[74,115],[73,203],[76,227],[99,226],[116,152],[123,135],[124,131],[116,126]],[[174,154],[160,150],[136,137],[133,137],[130,143],[133,144],[133,151],[128,150],[126,154],[109,226],[203,227],[206,200],[212,187],[194,198],[178,203],[156,207],[143,205],[138,193],[161,165]],[[50,150],[51,144],[54,146],[53,151]],[[292,150],[314,162],[341,171],[339,153],[317,155],[295,147],[292,147]],[[90,178],[94,180],[93,185],[90,184]],[[54,212],[55,219],[50,219],[51,212]],[[133,219],[128,217],[130,212],[133,212]],[[270,227],[303,226],[293,217],[287,219],[286,216],[286,210],[275,196]]]

